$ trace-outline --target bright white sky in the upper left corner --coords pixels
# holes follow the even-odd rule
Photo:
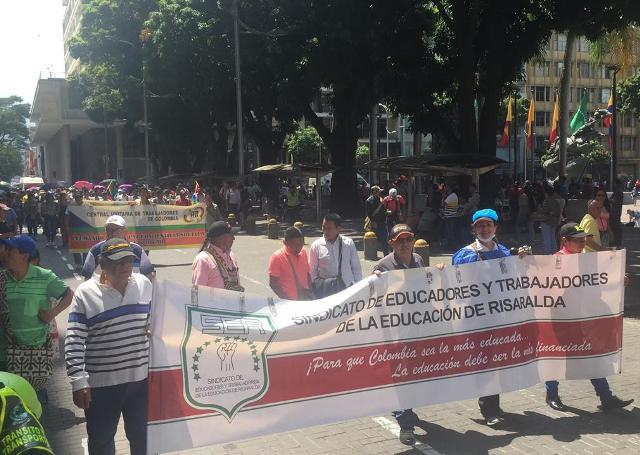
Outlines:
[[[64,77],[62,0],[0,0],[0,97],[33,100],[38,76]]]

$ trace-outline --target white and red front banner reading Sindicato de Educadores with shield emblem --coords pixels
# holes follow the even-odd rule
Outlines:
[[[149,453],[619,373],[624,263],[394,271],[311,302],[160,282]]]

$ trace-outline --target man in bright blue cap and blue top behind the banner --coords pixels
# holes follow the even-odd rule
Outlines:
[[[452,257],[452,264],[469,264],[471,262],[487,261],[510,256],[509,248],[495,241],[498,228],[498,214],[493,209],[478,210],[473,214],[473,243],[458,250]],[[529,248],[520,247],[518,256],[529,253]],[[504,411],[500,409],[500,395],[490,395],[478,399],[480,412],[489,426],[494,426],[504,420]]]

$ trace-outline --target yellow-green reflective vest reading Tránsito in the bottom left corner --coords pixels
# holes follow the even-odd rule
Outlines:
[[[44,429],[13,389],[0,383],[0,455],[53,455]]]

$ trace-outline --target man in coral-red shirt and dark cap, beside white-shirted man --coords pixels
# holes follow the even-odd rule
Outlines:
[[[269,259],[269,286],[281,299],[311,300],[309,260],[298,228],[284,232],[284,246]]]

